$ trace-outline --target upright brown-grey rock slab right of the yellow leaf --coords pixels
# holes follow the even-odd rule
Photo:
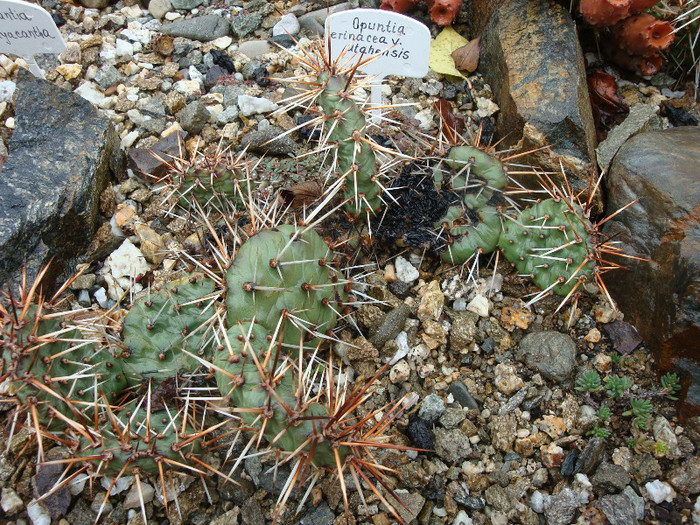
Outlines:
[[[482,8],[484,16],[495,9]],[[587,184],[595,169],[595,126],[569,12],[550,0],[502,3],[484,28],[479,71],[501,109],[496,133],[504,145],[551,146],[527,160],[554,172],[562,161],[575,189]]]

